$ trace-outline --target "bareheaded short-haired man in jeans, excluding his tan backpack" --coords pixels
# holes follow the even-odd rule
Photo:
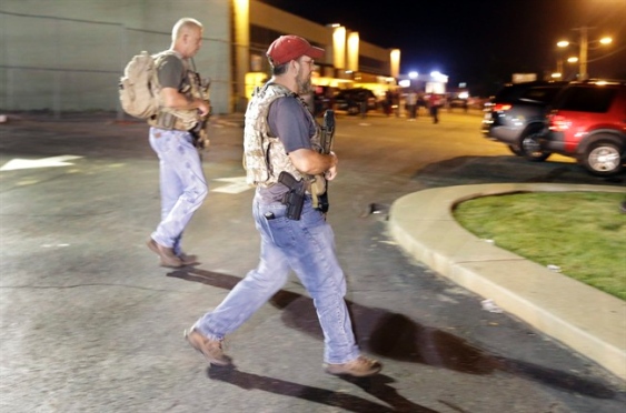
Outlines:
[[[156,57],[159,110],[148,121],[150,145],[159,157],[161,191],[161,222],[148,248],[159,255],[162,266],[179,268],[196,262],[193,256],[182,253],[180,240],[208,193],[191,130],[208,117],[210,104],[190,67],[202,43],[202,24],[182,18],[171,34],[170,49]]]

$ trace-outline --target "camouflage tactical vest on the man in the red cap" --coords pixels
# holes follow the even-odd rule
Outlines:
[[[257,87],[246,110],[244,129],[244,168],[246,169],[248,184],[262,188],[271,187],[278,181],[281,171],[289,172],[297,180],[305,178],[309,184],[311,181],[324,180],[324,178],[318,179],[300,173],[291,163],[280,139],[270,134],[269,107],[275,100],[286,97],[298,99],[302,103],[305,113],[316,125],[316,132],[310,138],[311,147],[318,152],[321,149],[319,125],[306,108],[306,103],[296,93],[276,83],[266,83],[262,88]]]

